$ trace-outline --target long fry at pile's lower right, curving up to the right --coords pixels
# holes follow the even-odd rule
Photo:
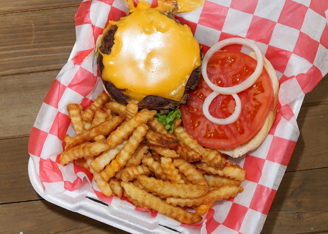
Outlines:
[[[214,203],[215,201],[221,201],[222,199],[228,199],[235,197],[237,193],[241,193],[244,190],[243,187],[236,185],[224,185],[219,188],[212,188],[207,194],[199,198],[173,198],[166,199],[166,203],[174,206],[193,206],[207,203]]]

